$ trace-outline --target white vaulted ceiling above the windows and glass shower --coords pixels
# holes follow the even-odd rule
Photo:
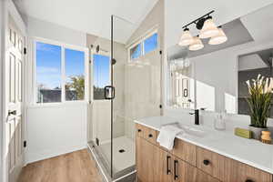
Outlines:
[[[110,38],[111,15],[125,18],[116,24],[134,31],[144,20],[157,0],[14,0],[22,14],[81,32]],[[129,26],[129,27],[128,27]],[[133,32],[131,32],[133,33]],[[117,35],[117,34],[116,34]],[[117,35],[126,42],[128,33]]]

